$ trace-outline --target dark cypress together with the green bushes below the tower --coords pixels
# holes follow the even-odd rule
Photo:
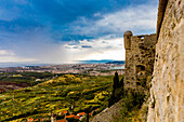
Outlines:
[[[148,77],[144,82],[150,82]],[[109,98],[108,106],[110,107],[115,103],[121,99],[120,116],[114,117],[114,122],[146,122],[148,112],[148,97],[149,97],[149,84],[147,83],[142,89],[133,90],[126,89],[123,78],[119,81],[119,76],[116,72],[113,83],[113,94]],[[152,104],[155,107],[155,98]]]

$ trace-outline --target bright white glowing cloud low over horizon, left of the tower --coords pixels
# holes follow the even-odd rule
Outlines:
[[[74,56],[75,60],[86,59],[124,59],[123,39],[114,38],[106,39],[106,37],[92,40],[80,40],[76,45],[65,44],[67,52],[77,54]],[[82,48],[82,45],[90,48]],[[77,46],[77,48],[76,48]]]

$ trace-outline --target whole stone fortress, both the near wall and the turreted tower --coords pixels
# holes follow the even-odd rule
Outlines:
[[[124,49],[126,87],[152,77],[147,121],[184,122],[184,0],[159,0],[156,35],[126,31]],[[114,106],[97,118],[114,118]]]

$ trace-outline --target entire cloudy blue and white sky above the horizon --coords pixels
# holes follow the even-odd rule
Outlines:
[[[123,31],[156,31],[158,0],[0,0],[0,63],[124,59]]]

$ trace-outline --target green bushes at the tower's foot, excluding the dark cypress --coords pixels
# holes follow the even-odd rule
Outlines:
[[[149,82],[150,77],[143,79],[145,85],[137,90],[124,90],[121,106],[121,117],[117,120],[120,122],[146,122],[148,112]],[[155,97],[152,103],[155,107]]]

